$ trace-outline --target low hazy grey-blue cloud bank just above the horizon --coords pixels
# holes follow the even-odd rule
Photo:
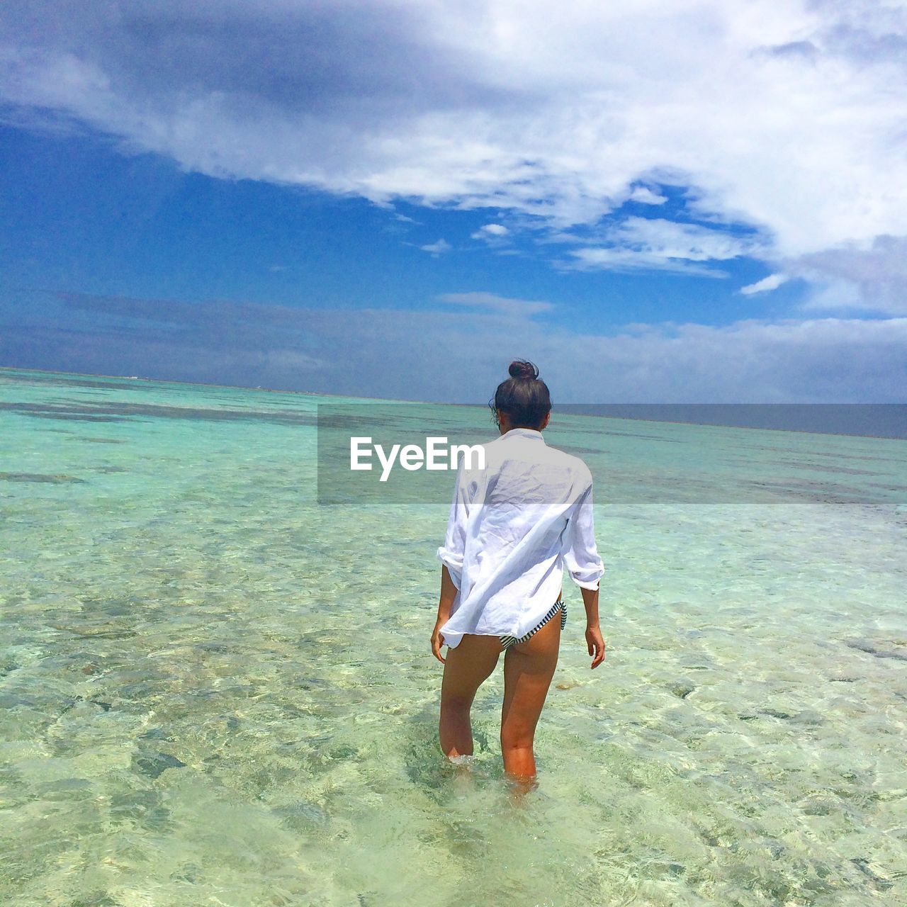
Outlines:
[[[463,403],[487,400],[518,357],[539,364],[556,403],[902,403],[907,386],[907,317],[605,336],[551,325],[542,300],[491,293],[430,311],[60,298],[53,326],[0,318],[5,365]],[[86,312],[100,329],[83,330]]]

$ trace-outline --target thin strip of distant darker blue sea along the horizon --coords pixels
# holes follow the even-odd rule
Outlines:
[[[229,387],[236,390],[266,391],[273,394],[306,396],[343,396],[361,400],[382,400],[386,403],[424,403],[443,405],[443,401],[387,400],[365,395],[331,395],[317,391],[286,390],[248,385],[219,385],[202,382],[175,381],[167,378],[146,378],[134,375],[93,375],[84,372],[62,372],[47,368],[0,366],[0,371],[24,372],[39,375],[73,375],[80,378],[105,378],[123,381],[148,381],[155,384],[187,385],[190,387]],[[454,404],[479,405],[485,404]],[[599,416],[611,419],[632,419],[645,422],[714,425],[725,428],[769,429],[806,434],[845,434],[860,437],[907,440],[907,403],[702,403],[702,404],[557,404],[561,413]]]

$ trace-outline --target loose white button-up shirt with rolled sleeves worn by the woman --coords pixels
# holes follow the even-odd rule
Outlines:
[[[457,587],[440,629],[452,648],[464,633],[523,636],[558,600],[565,566],[585,589],[598,588],[605,570],[589,467],[532,428],[512,428],[483,446],[484,469],[460,465],[438,549]]]

